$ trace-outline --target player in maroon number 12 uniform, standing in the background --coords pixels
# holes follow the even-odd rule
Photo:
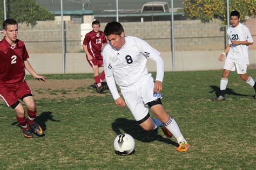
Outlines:
[[[107,85],[102,86],[103,80],[105,79],[105,73],[103,72],[99,75],[99,67],[103,67],[102,58],[102,46],[107,43],[106,37],[102,31],[99,31],[100,23],[98,20],[92,22],[92,31],[85,35],[83,41],[83,49],[86,54],[86,59],[89,65],[93,69],[93,76],[95,79],[95,84],[93,84],[98,93],[103,93],[107,89]],[[103,44],[103,45],[102,45]]]

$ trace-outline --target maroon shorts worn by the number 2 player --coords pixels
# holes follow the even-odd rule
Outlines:
[[[32,94],[25,80],[19,83],[0,84],[0,97],[3,98],[8,107],[18,104],[18,99],[23,100],[26,96],[32,96]]]

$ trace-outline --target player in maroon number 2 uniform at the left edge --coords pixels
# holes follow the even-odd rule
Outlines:
[[[37,110],[30,88],[25,81],[25,68],[35,79],[45,81],[46,77],[38,75],[30,65],[24,42],[17,39],[16,20],[6,19],[3,22],[3,33],[5,36],[0,41],[0,97],[8,107],[16,111],[16,118],[24,137],[32,138],[33,133],[42,136],[43,130],[35,122]],[[19,100],[26,105],[28,119]]]

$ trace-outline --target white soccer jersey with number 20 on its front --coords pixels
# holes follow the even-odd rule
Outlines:
[[[248,45],[233,45],[231,41],[245,41],[253,42],[251,33],[249,29],[244,25],[239,23],[238,26],[231,26],[227,30],[228,44],[231,44],[230,51],[228,51],[227,58],[232,59],[233,62],[238,64],[249,64],[248,57]]]

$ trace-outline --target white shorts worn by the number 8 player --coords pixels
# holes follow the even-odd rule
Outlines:
[[[160,93],[154,93],[153,78],[145,77],[145,80],[133,84],[129,88],[121,89],[127,107],[131,110],[136,121],[142,120],[149,114],[149,106],[147,103],[161,97]]]

